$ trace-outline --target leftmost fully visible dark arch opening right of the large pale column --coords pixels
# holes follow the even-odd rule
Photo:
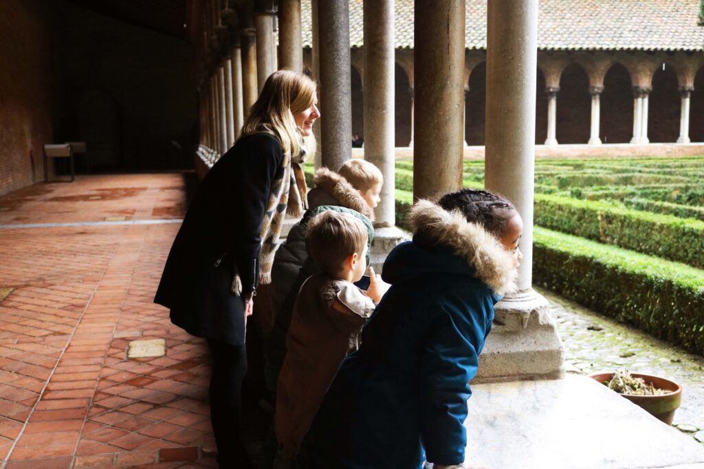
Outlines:
[[[589,75],[582,65],[571,63],[562,70],[558,93],[555,137],[559,143],[589,141],[591,96]]]

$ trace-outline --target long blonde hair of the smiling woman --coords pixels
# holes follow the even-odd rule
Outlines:
[[[315,82],[291,70],[279,70],[266,79],[264,87],[249,111],[239,138],[258,133],[272,134],[284,153],[301,153],[301,134],[294,114],[310,108],[314,102]],[[315,152],[315,137],[305,137],[308,155]]]

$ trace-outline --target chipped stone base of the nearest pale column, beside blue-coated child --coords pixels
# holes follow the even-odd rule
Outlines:
[[[494,311],[494,327],[472,383],[564,376],[562,340],[545,297],[529,289],[504,298]]]

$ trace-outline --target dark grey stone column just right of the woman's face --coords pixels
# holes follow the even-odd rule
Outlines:
[[[352,158],[349,6],[318,1],[322,165],[337,171]]]

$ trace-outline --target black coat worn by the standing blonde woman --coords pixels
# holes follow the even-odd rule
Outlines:
[[[243,295],[256,291],[260,229],[282,148],[270,134],[244,136],[201,182],[169,253],[154,302],[192,335],[244,345],[244,304],[231,291],[237,264]]]

